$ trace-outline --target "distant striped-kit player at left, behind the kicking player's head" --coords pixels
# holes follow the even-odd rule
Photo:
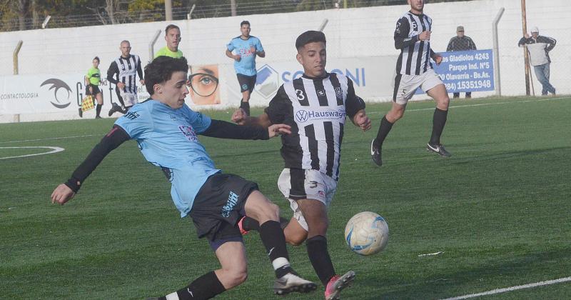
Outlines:
[[[107,80],[115,84],[117,99],[121,103],[118,106],[113,102],[109,110],[109,116],[114,112],[125,114],[131,106],[138,103],[136,76],[138,75],[141,85],[143,81],[143,69],[141,69],[141,59],[138,55],[131,54],[131,43],[121,41],[121,56],[115,59],[107,70]]]

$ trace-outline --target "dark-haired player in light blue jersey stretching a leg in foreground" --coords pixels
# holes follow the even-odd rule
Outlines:
[[[290,126],[268,129],[238,126],[210,119],[184,104],[187,61],[159,56],[145,67],[145,86],[151,98],[134,105],[117,119],[71,178],[56,187],[52,203],[72,199],[103,158],[124,141],[134,139],[147,161],[161,167],[171,181],[171,196],[181,216],[190,216],[198,237],[208,239],[221,269],[195,279],[183,289],[158,299],[210,299],[246,280],[246,249],[236,223],[242,216],[260,222],[260,237],[268,251],[276,282],[276,294],[315,290],[311,281],[290,266],[285,236],[278,222],[278,206],[258,191],[258,185],[240,176],[222,174],[198,134],[222,139],[269,139],[290,134]]]

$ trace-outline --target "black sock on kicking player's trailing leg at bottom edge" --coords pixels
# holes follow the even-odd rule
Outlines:
[[[226,291],[214,271],[204,274],[192,281],[188,286],[176,291],[179,300],[211,299],[213,296]],[[166,296],[159,298],[166,300]]]

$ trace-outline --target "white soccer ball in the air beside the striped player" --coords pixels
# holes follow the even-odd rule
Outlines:
[[[387,246],[388,224],[374,212],[360,212],[347,222],[345,241],[355,253],[373,255]]]

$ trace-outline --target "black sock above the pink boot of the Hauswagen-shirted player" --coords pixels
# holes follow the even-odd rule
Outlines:
[[[305,246],[308,248],[309,261],[311,261],[315,273],[317,273],[323,286],[327,286],[331,277],[335,276],[333,262],[331,262],[327,251],[327,239],[325,236],[312,236],[305,241]]]

